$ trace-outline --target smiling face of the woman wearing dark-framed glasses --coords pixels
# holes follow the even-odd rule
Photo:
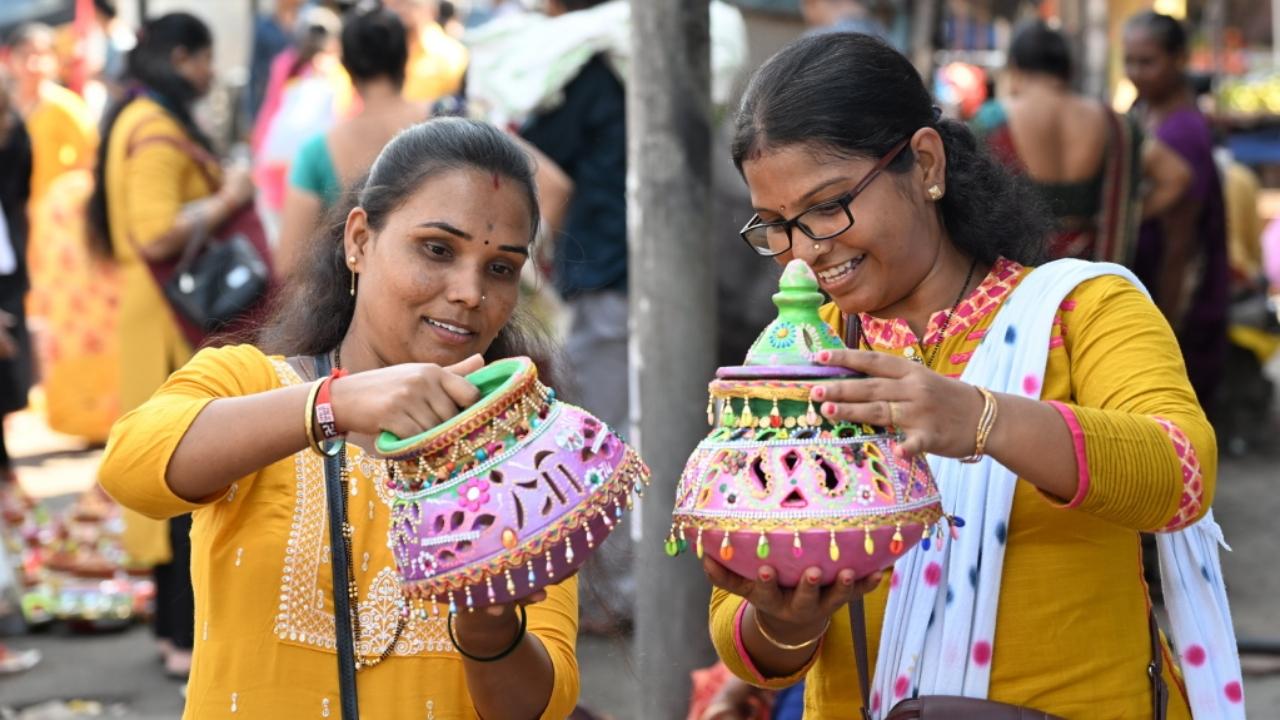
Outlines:
[[[782,264],[794,258],[808,263],[822,290],[845,313],[895,315],[937,269],[945,237],[927,188],[945,187],[942,140],[922,129],[910,149],[915,164],[909,172],[881,173],[849,205],[852,227],[823,241],[792,228],[791,249],[776,258]],[[849,192],[876,161],[788,145],[745,160],[742,174],[755,213],[764,222],[777,222]],[[769,242],[785,246],[786,237],[773,233]]]

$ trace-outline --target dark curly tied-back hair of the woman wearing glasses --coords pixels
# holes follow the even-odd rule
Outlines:
[[[940,119],[911,63],[869,35],[806,37],[765,61],[737,111],[733,161],[741,172],[756,151],[791,145],[876,160],[924,127],[937,129],[946,147],[947,192],[938,206],[951,242],[984,263],[1039,263],[1051,231],[1041,196],[979,149],[964,123]],[[902,174],[914,163],[908,147],[888,169]]]

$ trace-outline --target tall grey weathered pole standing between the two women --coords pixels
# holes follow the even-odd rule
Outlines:
[[[667,557],[676,486],[707,434],[716,372],[710,223],[709,0],[631,0],[627,224],[631,420],[653,470],[637,503],[635,717],[684,717],[690,671],[713,661],[710,587],[689,556]]]

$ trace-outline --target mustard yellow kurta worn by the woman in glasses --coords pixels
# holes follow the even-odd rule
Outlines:
[[[959,377],[1027,272],[1001,260],[961,302],[938,352],[938,372]],[[932,318],[927,347],[937,342],[945,315]],[[826,306],[823,319],[844,333],[837,307]],[[863,320],[864,348],[919,351],[905,322]],[[1217,470],[1213,432],[1196,404],[1169,324],[1126,281],[1102,277],[1071,292],[1057,311],[1050,348],[1042,398],[1061,402],[1075,430],[1083,460],[1079,491],[1064,503],[1018,483],[988,697],[1064,717],[1149,717],[1149,600],[1138,533],[1183,527],[1207,511]],[[867,597],[873,665],[892,582]],[[712,597],[712,635],[721,657],[755,684],[794,682],[759,678],[739,656],[733,633],[742,602],[722,591]],[[1171,665],[1166,647],[1169,717],[1189,717]],[[858,716],[847,612],[832,618],[805,671],[806,719]]]

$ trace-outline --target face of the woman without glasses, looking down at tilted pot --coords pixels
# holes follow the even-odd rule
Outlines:
[[[517,182],[476,169],[429,178],[378,231],[356,208],[344,241],[360,283],[351,337],[381,365],[483,354],[516,307],[530,222]]]

